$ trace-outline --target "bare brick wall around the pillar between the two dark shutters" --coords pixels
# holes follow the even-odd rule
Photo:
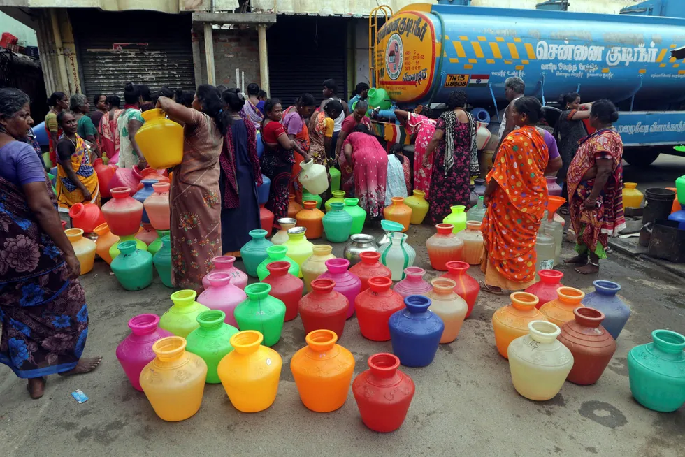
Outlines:
[[[215,30],[214,67],[217,85],[236,87],[236,68],[245,72],[245,87],[259,85],[259,44],[257,29]],[[204,35],[199,33],[203,82],[207,81]],[[240,81],[237,82],[237,85]]]

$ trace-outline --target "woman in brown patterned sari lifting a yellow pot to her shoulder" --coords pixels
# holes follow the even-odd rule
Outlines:
[[[183,161],[171,181],[171,282],[199,291],[221,252],[219,155],[228,122],[216,87],[197,88],[192,108],[161,96],[157,108],[184,125]]]

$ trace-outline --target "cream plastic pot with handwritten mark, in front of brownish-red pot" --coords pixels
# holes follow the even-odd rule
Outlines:
[[[509,345],[514,389],[529,400],[554,398],[573,367],[573,356],[556,337],[561,329],[547,321],[528,323],[528,335]]]

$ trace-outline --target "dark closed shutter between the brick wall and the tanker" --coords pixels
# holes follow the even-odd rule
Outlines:
[[[269,96],[284,108],[309,92],[322,100],[322,82],[333,78],[347,100],[347,20],[342,17],[279,15],[266,31]]]

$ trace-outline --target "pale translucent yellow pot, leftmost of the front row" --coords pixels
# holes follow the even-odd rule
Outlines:
[[[152,345],[156,357],[140,372],[140,386],[164,421],[188,419],[202,404],[207,364],[185,347],[184,338],[161,338]]]

